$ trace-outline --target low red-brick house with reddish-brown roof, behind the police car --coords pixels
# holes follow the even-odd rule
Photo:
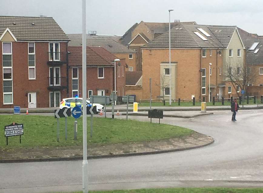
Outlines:
[[[70,97],[82,97],[82,47],[69,46],[68,51]],[[125,59],[102,47],[87,46],[87,97],[110,95],[115,90],[115,70],[117,96],[125,95],[125,67]]]

